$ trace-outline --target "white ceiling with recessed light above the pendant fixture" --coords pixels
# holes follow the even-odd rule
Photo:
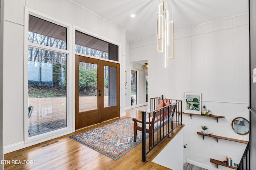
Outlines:
[[[156,35],[162,0],[70,0],[126,30],[126,40]],[[164,0],[174,30],[248,13],[248,0]],[[130,14],[135,14],[134,18]]]

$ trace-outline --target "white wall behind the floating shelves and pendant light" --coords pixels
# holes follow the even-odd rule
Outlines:
[[[226,156],[239,163],[245,144],[196,135],[207,125],[214,135],[248,141],[249,135],[238,135],[231,127],[235,117],[249,119],[249,20],[248,14],[176,30],[174,59],[156,52],[156,37],[130,43],[129,60],[148,60],[148,96],[184,100],[184,92],[202,93],[205,105],[218,119],[183,115],[184,162],[190,159],[216,167],[210,158]],[[224,169],[224,167],[222,167]]]

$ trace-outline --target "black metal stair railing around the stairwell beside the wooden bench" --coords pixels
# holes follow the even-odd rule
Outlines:
[[[162,97],[151,98],[150,112],[142,111],[142,161],[147,162],[146,155],[156,147],[163,139],[170,137],[170,133],[179,125],[182,125],[182,101],[170,100],[171,104],[156,109],[163,100]],[[164,99],[165,100],[165,99]],[[169,101],[169,100],[168,100]],[[153,118],[152,118],[153,117]],[[151,125],[153,133],[146,132],[146,122],[154,121]],[[149,129],[149,128],[148,128]],[[149,131],[149,130],[148,130]],[[152,132],[151,131],[151,132]]]

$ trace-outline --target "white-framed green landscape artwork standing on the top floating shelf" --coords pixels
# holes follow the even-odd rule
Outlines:
[[[185,93],[185,113],[201,114],[201,93]]]

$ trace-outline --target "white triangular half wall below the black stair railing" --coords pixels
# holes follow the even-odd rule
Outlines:
[[[152,162],[172,170],[183,170],[183,133],[182,129]]]

